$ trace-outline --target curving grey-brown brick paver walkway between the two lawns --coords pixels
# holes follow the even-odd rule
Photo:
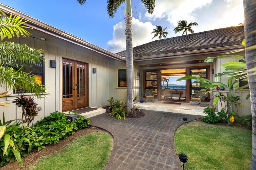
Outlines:
[[[143,110],[144,117],[117,120],[108,114],[91,118],[91,125],[114,136],[114,148],[105,170],[180,170],[173,135],[183,122],[202,116]]]

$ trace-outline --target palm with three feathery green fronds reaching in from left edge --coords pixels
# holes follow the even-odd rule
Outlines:
[[[11,14],[10,17],[4,15],[6,15],[5,12],[0,9],[1,40],[30,35],[25,30],[30,27],[22,25],[27,21],[23,21],[19,15]],[[14,91],[19,88],[40,97],[46,91],[44,85],[37,83],[36,76],[25,73],[21,69],[25,66],[32,68],[33,65],[41,65],[41,61],[44,60],[41,52],[41,49],[35,50],[25,44],[8,41],[0,43],[0,84],[10,89],[13,88]]]

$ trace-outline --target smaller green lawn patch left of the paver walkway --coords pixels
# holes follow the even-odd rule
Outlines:
[[[61,151],[40,159],[28,169],[101,170],[110,155],[111,140],[111,135],[102,132],[82,135],[65,145]]]

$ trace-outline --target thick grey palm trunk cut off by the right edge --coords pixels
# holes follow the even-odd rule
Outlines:
[[[244,33],[245,47],[256,44],[256,34],[249,34],[256,30],[256,2],[255,0],[243,0],[244,5]],[[247,69],[256,67],[256,49],[245,50]],[[248,76],[250,87],[251,115],[252,115],[252,155],[251,170],[256,169],[256,76]]]

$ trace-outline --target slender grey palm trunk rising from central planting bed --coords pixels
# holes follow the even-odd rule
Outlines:
[[[127,0],[130,2],[130,0]],[[132,108],[132,15],[125,15],[127,106]]]

